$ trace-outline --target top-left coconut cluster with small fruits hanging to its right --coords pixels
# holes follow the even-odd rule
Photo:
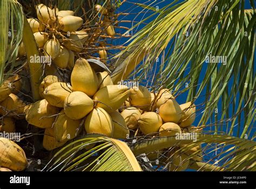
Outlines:
[[[99,9],[100,7],[100,9]],[[103,8],[96,5],[96,9],[102,12]],[[104,9],[107,12],[107,9]],[[88,33],[85,30],[77,31],[83,25],[83,19],[75,15],[71,10],[59,11],[58,8],[51,9],[44,4],[36,5],[36,18],[28,18],[33,36],[35,37],[39,52],[45,57],[50,57],[52,62],[60,69],[72,69],[75,62],[75,53],[83,50],[88,43]],[[109,36],[114,36],[113,25],[105,17],[102,25]],[[100,29],[99,29],[100,30]],[[100,31],[94,35],[100,35]],[[103,62],[107,59],[107,52],[104,43],[99,44],[99,57]],[[18,50],[19,56],[26,54],[22,42]]]

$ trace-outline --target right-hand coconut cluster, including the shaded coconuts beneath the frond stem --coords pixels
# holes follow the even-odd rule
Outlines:
[[[121,113],[130,130],[137,130],[144,136],[153,137],[193,132],[192,123],[196,118],[196,106],[191,102],[179,105],[168,89],[154,93],[144,86],[134,86],[130,89],[130,93],[129,99],[124,103],[125,109]],[[183,160],[197,152],[201,153],[200,146],[193,147],[180,156],[177,154],[171,156],[173,153],[170,153],[168,156],[173,161],[169,170],[173,171],[176,168],[179,171],[185,170],[189,161],[183,162]],[[149,155],[150,160],[156,160],[158,157],[158,153]],[[192,159],[201,160],[201,156],[199,154]],[[179,166],[181,162],[183,164]]]

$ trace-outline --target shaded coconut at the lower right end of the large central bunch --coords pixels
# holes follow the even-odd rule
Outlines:
[[[123,116],[117,112],[109,113],[113,121],[113,138],[126,139],[129,137],[130,131],[125,123]]]

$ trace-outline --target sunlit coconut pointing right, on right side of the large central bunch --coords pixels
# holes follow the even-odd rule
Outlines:
[[[102,107],[107,112],[117,110],[130,96],[130,91],[125,85],[107,85],[98,90],[93,99],[97,107]]]

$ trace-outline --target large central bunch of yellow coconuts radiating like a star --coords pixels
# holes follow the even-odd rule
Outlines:
[[[52,150],[83,130],[125,139],[129,129],[120,106],[130,96],[124,85],[113,85],[109,73],[96,73],[84,58],[76,60],[71,84],[46,76],[39,88],[42,100],[26,106],[26,121],[45,129],[43,146]]]

